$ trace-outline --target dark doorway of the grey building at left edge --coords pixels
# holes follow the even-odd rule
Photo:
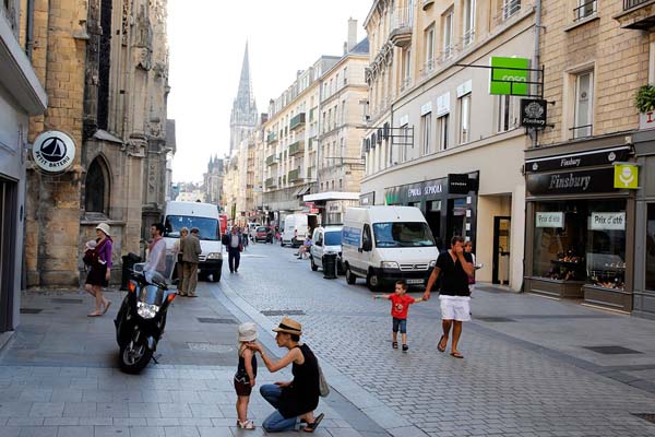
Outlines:
[[[0,178],[0,332],[13,328],[16,184]]]

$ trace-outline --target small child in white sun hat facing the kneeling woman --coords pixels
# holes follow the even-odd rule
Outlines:
[[[239,364],[235,374],[237,392],[237,426],[241,429],[254,429],[254,423],[248,420],[248,403],[257,377],[257,356],[248,347],[257,340],[257,327],[252,322],[239,324]]]

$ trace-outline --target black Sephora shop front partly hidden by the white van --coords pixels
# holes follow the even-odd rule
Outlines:
[[[440,179],[390,187],[384,203],[418,208],[440,250],[451,237],[460,235],[475,246],[478,172],[451,174]]]

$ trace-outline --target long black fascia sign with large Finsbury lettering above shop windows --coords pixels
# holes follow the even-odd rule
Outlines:
[[[531,194],[570,194],[587,192],[611,192],[614,168],[527,175],[527,191]]]

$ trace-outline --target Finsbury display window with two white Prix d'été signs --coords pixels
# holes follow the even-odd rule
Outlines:
[[[535,276],[623,288],[624,201],[539,202],[535,210]]]

